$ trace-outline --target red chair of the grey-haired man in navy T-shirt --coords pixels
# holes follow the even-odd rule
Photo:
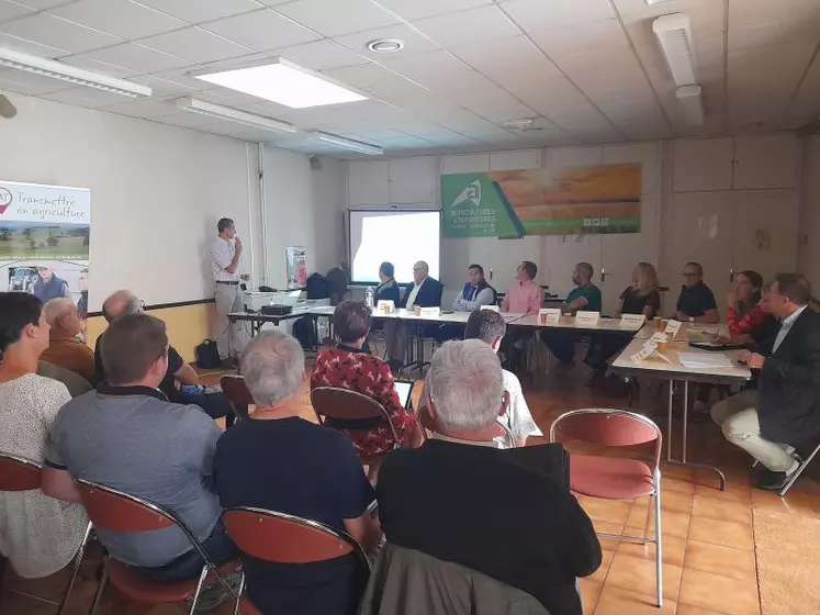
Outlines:
[[[312,563],[355,554],[360,566],[368,572],[371,569],[364,550],[350,535],[324,523],[251,507],[232,508],[224,518],[228,536],[249,557],[276,563]],[[244,615],[262,615],[241,595],[244,590],[243,573],[235,615],[239,606]]]

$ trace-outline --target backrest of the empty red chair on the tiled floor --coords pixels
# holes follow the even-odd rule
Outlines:
[[[660,462],[661,429],[642,414],[626,410],[586,407],[566,412],[550,427],[550,441],[555,436],[600,446],[637,446],[655,443],[655,467]]]

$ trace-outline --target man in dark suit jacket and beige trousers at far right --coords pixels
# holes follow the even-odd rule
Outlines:
[[[775,276],[763,297],[779,331],[760,353],[740,357],[757,372],[757,389],[716,403],[711,416],[765,467],[757,487],[779,491],[799,467],[794,449],[820,436],[820,314],[808,309],[811,288],[802,276]]]

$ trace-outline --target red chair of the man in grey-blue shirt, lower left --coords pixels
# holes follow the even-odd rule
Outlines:
[[[130,566],[112,559],[111,556],[105,556],[102,562],[100,586],[97,589],[94,602],[91,605],[91,615],[97,610],[109,580],[120,592],[136,602],[165,604],[193,599],[191,601],[191,615],[196,610],[196,601],[204,585],[220,582],[236,597],[234,591],[223,579],[223,574],[239,568],[239,560],[232,560],[216,567],[202,547],[202,543],[176,514],[139,497],[89,481],[78,479],[77,487],[80,490],[80,497],[88,517],[96,527],[109,532],[132,533],[176,526],[182,530],[191,546],[205,562],[199,579],[158,582],[143,577]]]

